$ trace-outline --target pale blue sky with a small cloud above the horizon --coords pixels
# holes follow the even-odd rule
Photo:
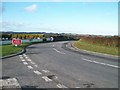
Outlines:
[[[4,2],[3,31],[118,34],[117,2]]]

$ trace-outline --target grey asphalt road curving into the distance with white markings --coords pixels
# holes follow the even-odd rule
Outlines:
[[[3,59],[3,78],[21,88],[118,88],[117,60],[76,53],[64,43],[34,44]]]

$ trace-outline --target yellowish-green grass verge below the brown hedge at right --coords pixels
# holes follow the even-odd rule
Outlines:
[[[76,41],[74,45],[79,49],[118,56],[118,47],[108,47],[108,46],[90,44],[85,41]]]

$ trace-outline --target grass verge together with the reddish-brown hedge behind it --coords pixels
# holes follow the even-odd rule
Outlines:
[[[104,54],[119,55],[119,37],[82,37],[74,45],[80,49]],[[120,55],[119,55],[120,56]]]

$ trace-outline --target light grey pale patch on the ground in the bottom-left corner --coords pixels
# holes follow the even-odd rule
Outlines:
[[[21,90],[16,78],[0,79],[0,89],[15,88]]]

